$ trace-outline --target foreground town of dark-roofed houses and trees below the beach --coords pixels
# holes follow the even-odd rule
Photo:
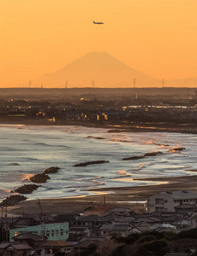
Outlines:
[[[64,202],[67,205],[67,201]],[[26,205],[25,205],[26,206]],[[12,210],[9,210],[9,207]],[[197,192],[166,191],[144,206],[91,202],[83,211],[47,213],[37,201],[20,215],[1,203],[0,255],[196,255]],[[55,212],[55,209],[53,209]]]

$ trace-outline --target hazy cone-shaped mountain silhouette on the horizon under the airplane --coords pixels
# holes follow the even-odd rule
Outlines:
[[[55,73],[32,81],[32,87],[133,87],[134,79],[136,87],[161,86],[160,80],[125,65],[106,52],[90,52]]]

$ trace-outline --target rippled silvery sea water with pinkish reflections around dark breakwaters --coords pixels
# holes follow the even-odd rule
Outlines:
[[[0,125],[0,200],[11,190],[32,183],[29,177],[50,166],[49,174],[29,199],[90,195],[92,188],[155,184],[137,177],[194,175],[197,172],[197,137],[166,132],[107,132],[107,129],[58,125]],[[180,152],[169,150],[185,148]],[[139,160],[123,158],[152,151],[163,154]],[[108,163],[74,167],[86,161]]]

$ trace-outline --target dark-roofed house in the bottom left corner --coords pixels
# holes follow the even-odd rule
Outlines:
[[[0,243],[0,255],[1,256],[30,256],[32,247],[28,246],[26,243],[17,243],[5,241]]]

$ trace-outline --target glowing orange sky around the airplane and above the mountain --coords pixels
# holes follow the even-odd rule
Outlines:
[[[0,0],[0,87],[91,51],[155,79],[197,77],[196,13],[196,0]]]

